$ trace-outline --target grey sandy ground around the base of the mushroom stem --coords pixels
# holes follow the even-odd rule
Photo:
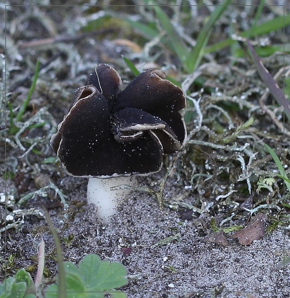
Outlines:
[[[85,204],[85,182],[65,179],[66,187],[74,186],[69,198]],[[43,203],[53,204],[48,199]],[[98,223],[94,206],[73,208],[67,212],[71,214],[69,224],[60,209],[50,211],[60,238],[73,235],[69,245],[63,244],[65,259],[78,263],[85,254],[97,253],[103,259],[123,263],[128,270],[128,285],[121,290],[129,298],[290,295],[289,266],[272,271],[284,253],[288,254],[288,229],[278,228],[248,246],[227,236],[228,245],[224,247],[208,241],[213,232],[206,227],[207,217],[193,214],[183,219],[183,214],[170,208],[160,210],[157,202],[142,192],[131,193],[106,225]],[[18,232],[8,232],[7,245],[17,247],[15,261],[19,267],[33,264],[27,260],[27,256],[36,254],[31,231],[45,226],[43,220],[30,217]],[[49,233],[45,242],[46,252],[51,252],[54,244]],[[124,247],[132,248],[131,253],[124,254]],[[54,262],[50,260],[46,266],[54,268]]]

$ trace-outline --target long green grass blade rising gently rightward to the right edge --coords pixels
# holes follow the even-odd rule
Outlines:
[[[259,24],[255,28],[251,28],[247,31],[240,33],[241,37],[253,37],[253,36],[261,36],[264,34],[269,34],[270,32],[274,32],[276,30],[280,30],[284,28],[284,26],[290,25],[290,13],[285,16],[278,16],[270,21],[266,21],[264,23]],[[249,35],[250,33],[250,35]],[[214,53],[217,50],[223,49],[225,47],[231,46],[237,41],[231,38],[225,39],[223,41],[217,42],[207,48],[204,49],[204,54]]]

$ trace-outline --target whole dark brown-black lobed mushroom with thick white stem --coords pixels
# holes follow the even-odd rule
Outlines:
[[[107,222],[133,176],[149,175],[162,167],[164,153],[180,150],[186,128],[180,110],[182,90],[159,70],[139,74],[121,91],[119,74],[106,64],[79,87],[69,112],[51,138],[53,151],[72,176],[88,177],[87,200],[98,206]]]

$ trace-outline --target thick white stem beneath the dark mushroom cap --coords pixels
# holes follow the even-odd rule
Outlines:
[[[97,217],[100,222],[108,223],[109,218],[116,214],[117,208],[125,197],[131,192],[130,189],[121,185],[135,186],[137,179],[131,177],[114,177],[108,179],[89,178],[87,184],[87,203],[97,206]],[[112,187],[120,186],[117,190]]]

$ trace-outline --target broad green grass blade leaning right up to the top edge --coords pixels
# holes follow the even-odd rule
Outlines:
[[[194,47],[193,51],[189,54],[187,60],[187,68],[188,72],[192,73],[200,64],[202,57],[205,54],[205,47],[208,43],[211,31],[220,18],[222,13],[225,11],[227,6],[230,4],[231,0],[224,0],[214,12],[210,15],[209,20],[207,21],[206,25],[203,27],[201,32],[198,35],[196,46]]]

